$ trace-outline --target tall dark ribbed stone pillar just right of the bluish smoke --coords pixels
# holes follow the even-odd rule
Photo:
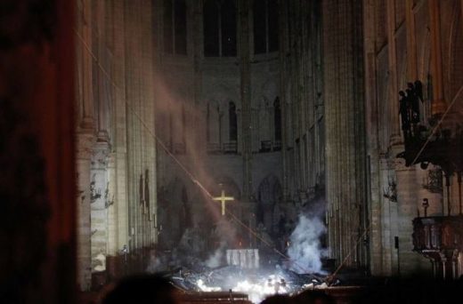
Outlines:
[[[340,232],[330,249],[337,263],[353,252],[345,264],[351,267],[364,263],[357,243],[366,210],[361,9],[359,2],[323,2],[327,201],[332,208],[338,200],[339,208],[329,234]]]

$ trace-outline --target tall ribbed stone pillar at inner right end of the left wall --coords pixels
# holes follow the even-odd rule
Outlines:
[[[156,141],[154,139],[154,75],[151,1],[125,3],[126,167],[130,249],[134,270],[142,271],[144,252],[150,245],[152,222],[144,202],[146,170],[150,172],[150,200],[155,205]],[[134,252],[135,251],[135,252]]]

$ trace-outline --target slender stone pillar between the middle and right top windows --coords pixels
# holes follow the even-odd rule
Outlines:
[[[239,1],[240,20],[240,95],[242,115],[243,198],[250,200],[252,185],[251,76],[249,60],[249,2]]]

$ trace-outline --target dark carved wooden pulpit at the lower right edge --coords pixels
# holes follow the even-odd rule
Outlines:
[[[432,261],[435,277],[458,278],[463,252],[463,216],[413,220],[413,251]]]

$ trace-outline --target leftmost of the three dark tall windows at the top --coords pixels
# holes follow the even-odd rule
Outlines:
[[[186,55],[185,0],[164,0],[164,52]]]

